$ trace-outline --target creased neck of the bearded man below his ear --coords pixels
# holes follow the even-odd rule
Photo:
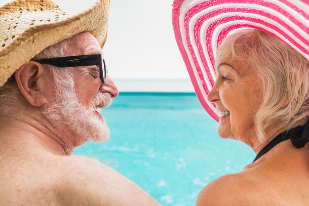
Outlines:
[[[53,126],[41,115],[39,109],[25,112],[22,118],[0,123],[0,131],[0,141],[2,139],[11,146],[29,144],[56,155],[71,155],[75,148],[73,138],[67,138],[72,134]]]

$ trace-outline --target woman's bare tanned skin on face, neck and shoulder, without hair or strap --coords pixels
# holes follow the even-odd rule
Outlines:
[[[218,110],[230,111],[221,117],[218,133],[237,139],[257,154],[282,131],[270,128],[262,144],[254,133],[254,116],[262,101],[258,74],[245,62],[221,58],[218,79],[208,95]],[[300,125],[306,122],[300,123]],[[308,206],[309,144],[295,148],[291,141],[273,147],[256,162],[235,174],[221,176],[206,185],[196,206]]]

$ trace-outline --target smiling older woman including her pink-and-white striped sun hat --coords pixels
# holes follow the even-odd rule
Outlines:
[[[286,31],[277,29],[275,34],[275,27],[270,25],[272,20],[288,22],[293,18],[303,18],[305,12],[300,10],[300,7],[295,7],[301,4],[293,7],[290,1],[287,7],[298,8],[302,15],[297,15],[294,9],[293,15],[286,15],[286,19],[282,16],[280,19],[276,16],[272,16],[271,20],[264,19],[264,26],[270,23],[268,29],[265,29],[266,26],[262,28],[261,25],[258,27],[246,22],[246,27],[251,27],[250,29],[238,30],[227,36],[224,32],[229,30],[231,24],[234,28],[245,25],[244,21],[231,22],[234,18],[239,21],[250,20],[245,14],[239,13],[235,17],[235,13],[228,14],[229,11],[225,11],[225,16],[218,16],[217,25],[219,21],[223,21],[220,18],[231,15],[230,22],[229,18],[226,19],[230,25],[226,28],[221,25],[221,31],[217,31],[220,36],[211,34],[216,32],[217,28],[211,29],[215,23],[210,22],[207,25],[207,18],[215,15],[214,7],[217,2],[209,0],[202,4],[201,1],[193,0],[188,3],[188,0],[175,0],[175,36],[202,105],[216,119],[216,115],[211,111],[211,107],[215,105],[220,116],[219,136],[249,145],[256,153],[256,158],[241,172],[219,177],[205,186],[196,205],[309,206],[309,52],[303,49],[309,48],[308,32],[300,33],[301,30],[298,30],[291,35],[292,39],[283,41],[284,38],[280,39],[276,34],[281,32],[280,37],[284,37]],[[240,2],[235,8],[231,5],[232,1],[229,3],[227,9],[233,12],[241,11]],[[262,3],[261,1],[257,5]],[[250,5],[255,9],[251,12],[263,15],[262,7],[259,10],[257,5]],[[271,7],[270,2],[267,5]],[[302,5],[308,8],[304,2]],[[217,12],[222,12],[224,5],[220,6]],[[250,11],[250,6],[243,6],[243,13]],[[287,7],[282,7],[287,10]],[[280,9],[276,7],[276,11],[278,10]],[[197,15],[194,12],[202,14]],[[309,15],[306,17],[309,18]],[[253,19],[251,21],[257,22]],[[283,25],[282,22],[280,24]],[[286,24],[286,27],[288,31],[293,31],[289,25]],[[202,53],[203,39],[198,36],[199,29],[206,30],[205,33],[200,32],[200,35],[206,35],[206,43],[207,39],[218,37],[215,43],[213,40],[209,41],[215,48],[206,46],[207,54]],[[308,23],[300,29],[309,31]],[[296,34],[304,36],[297,37]],[[187,41],[183,41],[184,39]],[[303,45],[299,43],[302,41]],[[219,47],[216,55],[212,56],[212,49],[215,50],[217,45]],[[216,80],[213,83],[210,69],[212,66],[216,71]],[[202,67],[205,71],[200,69]],[[209,84],[212,84],[212,88],[208,90]],[[207,94],[207,90],[207,100],[214,105],[205,106],[203,102],[206,95],[202,92]]]

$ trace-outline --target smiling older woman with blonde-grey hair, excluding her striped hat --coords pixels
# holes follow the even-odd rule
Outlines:
[[[207,98],[222,114],[219,136],[242,141],[257,157],[208,184],[197,205],[308,206],[308,60],[265,32],[246,30],[222,42],[216,68]]]

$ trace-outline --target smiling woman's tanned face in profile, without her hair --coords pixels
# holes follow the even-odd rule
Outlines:
[[[220,118],[218,133],[249,144],[248,136],[254,135],[253,114],[263,98],[258,74],[246,62],[231,62],[228,58],[219,60],[217,70],[217,81],[207,98],[218,110],[230,111],[229,116]]]

